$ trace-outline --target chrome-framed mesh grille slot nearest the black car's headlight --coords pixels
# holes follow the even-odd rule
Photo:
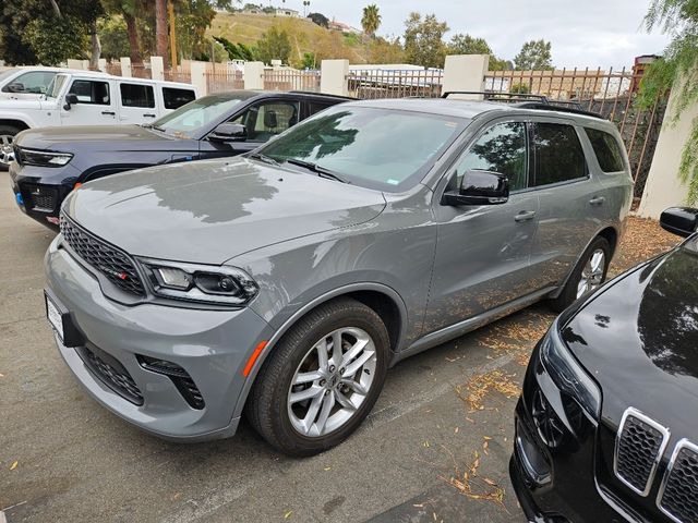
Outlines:
[[[616,476],[640,496],[649,494],[669,430],[635,409],[623,415],[616,436]]]

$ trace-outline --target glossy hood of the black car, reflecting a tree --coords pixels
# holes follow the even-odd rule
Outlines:
[[[562,328],[612,424],[635,406],[696,437],[697,273],[698,255],[679,246],[616,280]]]

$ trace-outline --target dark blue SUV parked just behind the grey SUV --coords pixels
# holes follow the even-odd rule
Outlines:
[[[236,90],[198,98],[145,125],[34,129],[14,142],[12,190],[29,217],[58,229],[61,203],[89,180],[178,161],[248,153],[301,120],[350,98]]]

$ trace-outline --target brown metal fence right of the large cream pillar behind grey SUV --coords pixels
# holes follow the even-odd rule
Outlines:
[[[575,102],[581,109],[600,113],[614,122],[628,151],[640,197],[659,138],[666,98],[658,98],[648,110],[639,110],[635,98],[641,74],[633,69],[602,71],[574,69],[557,71],[492,71],[485,76],[490,93],[528,93],[552,101]]]

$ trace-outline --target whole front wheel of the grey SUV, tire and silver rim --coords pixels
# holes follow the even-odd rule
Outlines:
[[[340,443],[381,393],[389,338],[381,317],[352,299],[309,313],[260,370],[246,415],[272,446],[312,455]]]

